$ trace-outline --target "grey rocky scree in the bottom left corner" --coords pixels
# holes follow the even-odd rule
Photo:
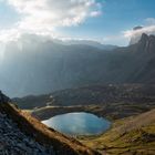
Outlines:
[[[12,120],[0,113],[0,155],[54,155],[54,152],[23,134]]]

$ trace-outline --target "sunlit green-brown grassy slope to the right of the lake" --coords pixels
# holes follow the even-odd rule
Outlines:
[[[80,137],[87,146],[118,155],[155,154],[155,110],[116,121],[105,134]]]

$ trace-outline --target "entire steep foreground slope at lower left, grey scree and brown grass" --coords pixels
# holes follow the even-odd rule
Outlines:
[[[17,108],[2,93],[0,96],[0,155],[99,154]]]

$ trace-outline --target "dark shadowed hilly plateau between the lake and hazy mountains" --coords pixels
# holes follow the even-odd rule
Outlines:
[[[68,112],[91,112],[122,118],[155,107],[155,86],[145,84],[93,85],[13,100],[40,120]]]

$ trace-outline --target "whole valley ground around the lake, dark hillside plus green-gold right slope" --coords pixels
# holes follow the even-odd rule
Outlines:
[[[14,102],[40,121],[71,112],[89,112],[112,121],[105,134],[76,137],[101,154],[155,155],[154,85],[89,86]]]

